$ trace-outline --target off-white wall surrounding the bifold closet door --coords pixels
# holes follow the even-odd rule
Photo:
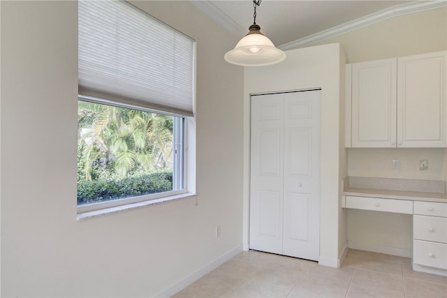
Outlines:
[[[321,87],[321,244],[319,262],[337,267],[342,252],[339,238],[343,232],[339,223],[343,218],[340,204],[339,181],[341,164],[346,163],[340,154],[340,97],[344,80],[344,53],[338,44],[307,47],[287,51],[284,62],[274,66],[245,68],[244,70],[244,248],[248,243],[249,208],[249,119],[250,94],[270,91],[287,91]],[[342,142],[344,144],[344,141]],[[346,175],[347,172],[342,173]],[[344,239],[346,243],[346,238]]]

